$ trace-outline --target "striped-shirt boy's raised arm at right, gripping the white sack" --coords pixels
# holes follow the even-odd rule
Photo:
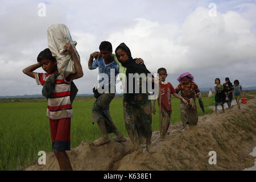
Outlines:
[[[64,49],[66,49],[68,53],[72,56],[72,60],[74,61],[74,66],[76,69],[75,74],[71,74],[66,78],[67,81],[71,82],[72,80],[75,80],[77,78],[81,78],[82,76],[84,76],[84,73],[82,72],[82,66],[80,64],[79,58],[77,57],[75,50],[73,49],[73,46],[67,43],[65,44]]]

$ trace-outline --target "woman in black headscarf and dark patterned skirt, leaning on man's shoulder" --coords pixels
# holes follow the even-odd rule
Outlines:
[[[129,74],[142,73],[147,74],[150,71],[147,70],[144,64],[136,64],[135,59],[131,56],[130,49],[125,43],[121,43],[115,49],[115,55],[117,55],[118,61],[126,68],[126,83],[125,87],[127,93],[123,94],[123,114],[125,117],[125,127],[131,141],[133,142],[135,149],[139,152],[142,151],[141,143],[142,138],[146,138],[146,149],[151,144],[152,135],[152,117],[151,117],[151,100],[148,100],[148,92],[142,92],[142,82],[146,80],[129,80]],[[151,73],[150,73],[151,74]],[[139,83],[139,93],[135,93],[135,86]],[[133,93],[129,92],[129,86],[133,86]]]

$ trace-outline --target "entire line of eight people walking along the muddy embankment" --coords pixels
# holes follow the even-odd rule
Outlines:
[[[80,64],[80,57],[77,55],[76,50],[72,44],[67,43],[64,46],[65,51],[71,55],[75,73],[64,77],[57,69],[57,60],[52,56],[49,48],[44,49],[38,55],[38,63],[30,65],[23,69],[23,72],[35,78],[38,85],[43,85],[43,95],[48,99],[47,117],[49,118],[52,148],[59,162],[61,170],[72,170],[71,162],[65,151],[71,150],[71,118],[73,116],[72,102],[74,99],[73,80],[81,78],[84,73]],[[155,114],[155,101],[158,100],[160,115],[164,118],[164,125],[160,129],[160,140],[164,140],[167,135],[168,128],[171,120],[171,94],[180,99],[180,114],[183,124],[183,130],[187,130],[188,126],[195,126],[198,122],[198,113],[195,104],[196,97],[201,98],[201,93],[194,82],[194,77],[189,72],[182,73],[177,80],[180,84],[174,89],[170,82],[166,81],[168,76],[165,68],[158,69],[158,77],[154,77],[146,68],[144,61],[141,58],[133,58],[129,47],[125,43],[119,44],[113,53],[112,44],[110,42],[101,42],[99,51],[90,54],[88,60],[88,68],[98,68],[98,73],[105,73],[109,79],[100,78],[101,86],[104,85],[105,89],[109,92],[98,92],[99,87],[93,88],[96,101],[92,108],[93,122],[98,124],[101,131],[101,137],[93,142],[95,146],[110,141],[108,134],[114,133],[117,142],[125,142],[126,138],[118,131],[114,125],[112,117],[109,112],[110,102],[115,96],[114,92],[110,92],[111,85],[115,85],[118,73],[122,81],[123,88],[127,90],[129,86],[133,87],[133,92],[123,93],[123,115],[125,119],[125,127],[131,142],[133,142],[135,151],[142,152],[142,144],[146,143],[146,150],[150,152],[151,136],[152,136],[152,113]],[[42,67],[46,73],[34,72],[35,69]],[[114,75],[112,74],[114,70]],[[132,79],[129,80],[129,74],[147,75],[146,80]],[[149,75],[149,76],[148,76]],[[143,81],[147,84],[156,85],[159,88],[159,96],[155,100],[150,100],[149,93],[143,90]],[[104,84],[102,84],[104,82]],[[129,84],[128,84],[129,82]],[[135,86],[139,84],[139,92],[134,92]],[[223,105],[224,94],[227,93],[229,100],[232,99],[232,90],[238,93],[241,86],[238,88],[235,81],[235,87],[228,81],[225,85],[220,85],[220,79],[216,78],[216,104]],[[76,87],[75,87],[76,88]],[[107,89],[106,89],[107,88]],[[148,86],[146,87],[148,88]],[[75,91],[74,91],[75,90]],[[221,93],[221,90],[225,90]],[[179,95],[178,93],[181,93]],[[76,93],[75,93],[76,94]],[[223,97],[223,98],[222,98]],[[235,94],[236,97],[236,94]],[[238,97],[238,96],[237,96]],[[229,102],[230,105],[230,102]]]

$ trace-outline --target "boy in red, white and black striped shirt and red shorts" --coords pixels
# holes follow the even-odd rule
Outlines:
[[[76,73],[64,78],[58,73],[57,61],[47,48],[38,55],[38,63],[23,69],[23,73],[35,78],[38,85],[44,85],[50,76],[55,76],[55,90],[48,98],[47,114],[49,118],[52,148],[59,162],[61,170],[72,170],[66,150],[70,150],[71,118],[73,116],[71,96],[71,82],[83,76],[82,67],[72,45],[67,43],[64,49],[72,56]],[[46,73],[33,72],[42,67]],[[57,76],[57,77],[56,77]]]

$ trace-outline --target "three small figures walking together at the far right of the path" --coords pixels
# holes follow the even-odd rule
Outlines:
[[[241,97],[243,96],[242,92],[242,86],[240,85],[240,82],[238,80],[234,80],[234,85],[232,82],[230,82],[229,78],[225,78],[225,83],[222,85],[220,78],[215,79],[216,86],[214,87],[215,99],[214,99],[214,105],[215,105],[215,113],[217,114],[217,106],[221,105],[223,113],[225,113],[224,104],[228,104],[228,107],[231,108],[231,103],[233,100],[233,92],[234,92],[234,98],[237,102],[238,109],[241,109],[240,107],[240,101]]]

